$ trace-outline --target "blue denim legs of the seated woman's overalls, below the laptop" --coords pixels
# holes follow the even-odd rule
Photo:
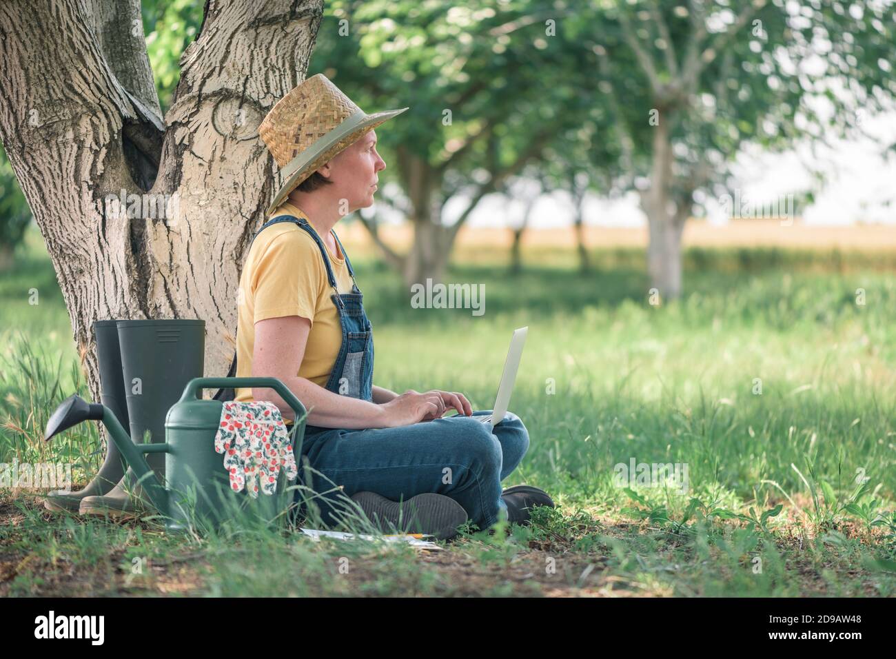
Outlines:
[[[372,491],[406,501],[435,492],[456,500],[470,521],[487,529],[499,515],[506,517],[501,481],[516,469],[528,448],[529,432],[518,416],[507,412],[494,429],[460,415],[401,428],[328,429],[306,438],[302,455],[324,477],[314,473],[314,482],[306,483],[315,493],[341,485],[349,497]],[[300,465],[300,476],[301,471]],[[328,524],[338,518],[332,516],[337,496],[329,493],[325,499],[314,499]],[[344,509],[338,504],[335,508]]]

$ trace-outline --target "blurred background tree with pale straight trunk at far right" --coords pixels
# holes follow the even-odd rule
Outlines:
[[[681,238],[747,143],[848,134],[896,95],[891,3],[634,0],[565,23],[594,54],[598,91],[650,227],[650,284],[682,291]]]

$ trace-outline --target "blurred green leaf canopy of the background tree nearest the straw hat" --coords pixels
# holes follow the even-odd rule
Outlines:
[[[615,162],[602,134],[611,117],[584,84],[593,73],[583,68],[586,51],[556,26],[547,33],[548,21],[574,14],[532,0],[336,0],[325,6],[307,74],[327,75],[367,112],[409,107],[377,134],[385,149],[401,144],[445,166],[443,201],[529,157],[565,187],[558,155],[593,156],[578,162],[583,169]]]

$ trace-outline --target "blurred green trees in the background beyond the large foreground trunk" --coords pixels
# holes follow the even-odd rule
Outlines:
[[[163,113],[202,11],[142,2]],[[649,285],[676,297],[685,221],[724,193],[745,146],[849,134],[896,97],[893,14],[892,2],[834,0],[334,0],[306,75],[326,74],[368,112],[410,108],[380,132],[387,185],[356,215],[406,284],[444,277],[488,195],[528,204],[508,220],[518,255],[535,189],[572,204],[585,272],[584,199],[633,191]],[[30,212],[2,152],[0,191],[9,267]],[[383,209],[412,227],[407,252],[381,238]]]

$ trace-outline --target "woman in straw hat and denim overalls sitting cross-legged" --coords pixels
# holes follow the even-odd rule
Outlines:
[[[329,491],[328,524],[340,517],[340,488],[383,531],[444,539],[468,517],[481,529],[499,517],[525,524],[531,507],[554,502],[526,485],[501,489],[529,447],[519,417],[507,412],[492,429],[470,418],[491,410],[473,412],[461,393],[373,384],[372,327],[333,227],[373,204],[385,169],[374,128],[406,109],[368,116],[317,74],[265,117],[259,132],[286,183],[240,278],[236,375],[277,377],[309,411],[302,455],[321,475],[306,485]],[[235,399],[271,401],[294,419],[272,389],[237,389]],[[449,408],[457,414],[443,418]]]

